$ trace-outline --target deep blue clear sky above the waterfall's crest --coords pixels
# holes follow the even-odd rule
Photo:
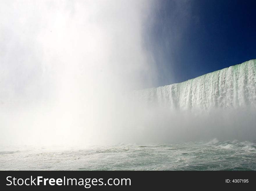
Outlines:
[[[255,8],[256,1],[158,1],[149,38],[159,85],[256,58]]]

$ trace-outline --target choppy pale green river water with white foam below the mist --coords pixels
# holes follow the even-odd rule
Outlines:
[[[182,144],[48,149],[1,149],[0,170],[256,170],[256,144],[251,142],[214,139]]]

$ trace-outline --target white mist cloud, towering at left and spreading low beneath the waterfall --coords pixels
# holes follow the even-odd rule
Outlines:
[[[2,2],[1,145],[255,137],[255,108],[202,113],[134,101],[161,76],[145,38],[154,1]]]

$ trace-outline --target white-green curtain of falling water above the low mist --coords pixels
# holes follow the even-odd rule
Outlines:
[[[204,110],[256,106],[256,60],[197,78],[136,92],[141,102],[173,109]]]

